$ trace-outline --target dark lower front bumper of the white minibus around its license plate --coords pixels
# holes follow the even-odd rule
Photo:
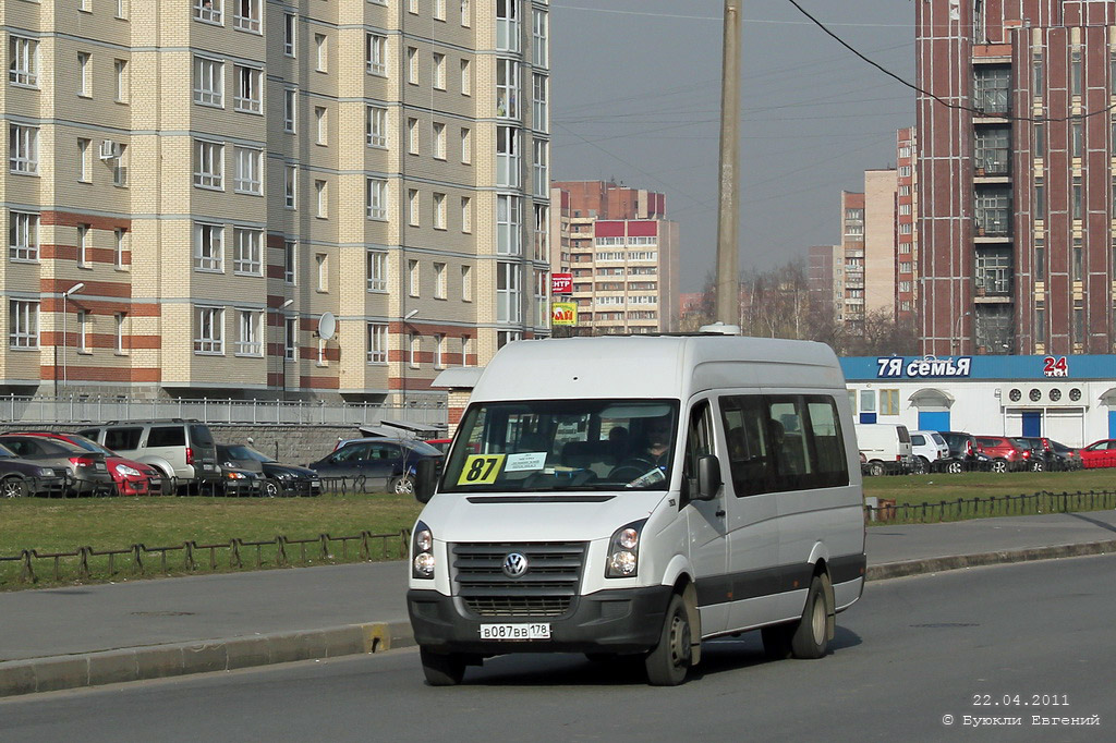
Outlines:
[[[480,617],[456,597],[435,590],[407,591],[415,640],[441,653],[642,653],[658,644],[670,586],[597,591],[574,599],[560,617]],[[481,640],[488,624],[550,625],[548,640]]]

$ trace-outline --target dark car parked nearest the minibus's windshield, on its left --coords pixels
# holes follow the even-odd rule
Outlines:
[[[413,493],[415,463],[445,455],[417,438],[355,438],[307,466],[323,477],[346,477],[365,492]]]

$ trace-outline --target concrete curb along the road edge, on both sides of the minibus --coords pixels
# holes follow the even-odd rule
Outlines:
[[[889,580],[962,568],[1107,552],[1116,552],[1116,540],[888,562],[870,566],[865,579]],[[381,653],[414,645],[411,623],[401,620],[4,660],[0,662],[0,697]]]

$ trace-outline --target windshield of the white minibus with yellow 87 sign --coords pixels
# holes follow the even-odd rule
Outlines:
[[[677,414],[673,399],[477,403],[439,491],[666,490]]]

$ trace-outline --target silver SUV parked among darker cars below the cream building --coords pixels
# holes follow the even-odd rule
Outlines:
[[[121,456],[157,467],[187,490],[213,488],[222,481],[217,444],[209,426],[198,421],[109,421],[78,432]]]

